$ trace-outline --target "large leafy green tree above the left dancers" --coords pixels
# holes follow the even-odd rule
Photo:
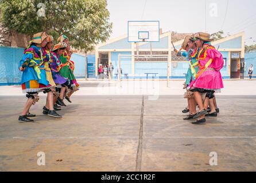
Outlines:
[[[65,34],[73,47],[90,51],[110,37],[106,7],[106,0],[2,0],[0,21],[18,33],[46,31],[55,40]]]

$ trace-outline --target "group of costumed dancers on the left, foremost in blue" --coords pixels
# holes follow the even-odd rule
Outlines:
[[[20,61],[19,69],[22,71],[22,92],[26,93],[28,100],[18,118],[19,122],[33,122],[28,117],[36,117],[29,112],[32,105],[39,100],[38,93],[47,93],[46,104],[42,113],[54,118],[62,118],[56,111],[66,106],[64,98],[71,102],[71,95],[79,88],[71,61],[73,50],[69,39],[64,34],[57,39],[54,45],[51,35],[45,32],[33,35],[24,57]]]

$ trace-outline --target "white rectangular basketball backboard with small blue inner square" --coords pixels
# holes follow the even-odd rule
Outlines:
[[[159,21],[128,21],[128,42],[158,42],[159,37]]]

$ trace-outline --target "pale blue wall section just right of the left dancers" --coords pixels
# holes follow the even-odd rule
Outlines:
[[[86,76],[86,57],[73,53],[71,55],[71,60],[75,62],[74,74],[76,78],[84,78]]]

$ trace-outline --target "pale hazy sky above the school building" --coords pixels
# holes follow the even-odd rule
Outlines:
[[[111,38],[127,33],[127,21],[159,20],[163,32],[246,33],[246,44],[256,44],[255,0],[107,0]],[[205,26],[206,7],[206,26]],[[227,11],[226,11],[227,10]],[[225,18],[226,17],[226,18]],[[252,37],[252,39],[249,39]],[[253,42],[255,41],[255,42]]]

